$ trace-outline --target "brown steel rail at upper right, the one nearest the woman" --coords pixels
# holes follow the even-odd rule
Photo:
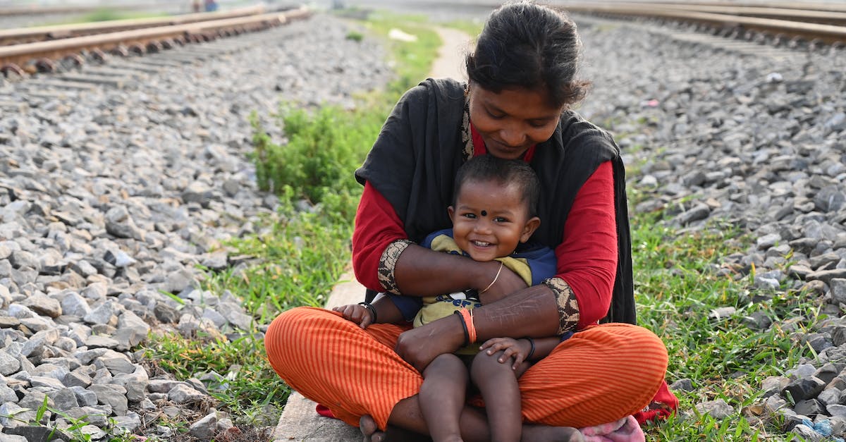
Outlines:
[[[789,34],[807,40],[824,41],[827,43],[846,41],[846,26],[685,11],[668,8],[668,5],[661,3],[561,3],[556,6],[570,12],[659,17],[717,27],[756,30],[772,34]]]

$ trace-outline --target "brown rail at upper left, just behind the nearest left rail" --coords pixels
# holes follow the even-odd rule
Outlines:
[[[151,17],[146,19],[122,19],[98,21],[93,23],[74,23],[70,25],[35,26],[0,30],[0,46],[9,44],[31,43],[35,41],[56,40],[74,36],[91,36],[117,32],[119,30],[134,30],[152,26],[184,25],[198,21],[213,19],[232,19],[246,15],[256,15],[265,12],[263,6],[250,6],[212,13],[183,14],[171,17]]]

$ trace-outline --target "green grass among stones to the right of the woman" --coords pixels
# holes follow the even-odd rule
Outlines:
[[[630,205],[643,197],[633,191]],[[751,329],[744,317],[761,311],[778,324],[800,316],[805,320],[799,327],[810,327],[821,319],[818,306],[792,290],[757,293],[748,275],[720,276],[721,257],[750,244],[733,227],[715,222],[699,232],[679,233],[666,227],[662,216],[640,214],[632,219],[638,322],[667,345],[667,382],[689,378],[694,390],[676,391],[679,411],[689,417],[679,414],[647,428],[647,439],[792,440],[794,436],[783,434],[775,424],[757,423],[744,412],[760,400],[761,381],[783,375],[799,356],[813,355],[794,345],[789,332],[779,326]],[[756,295],[766,296],[753,301]],[[717,307],[737,311],[728,318],[711,318],[709,313]],[[733,416],[717,421],[695,412],[696,404],[717,399],[733,406]]]

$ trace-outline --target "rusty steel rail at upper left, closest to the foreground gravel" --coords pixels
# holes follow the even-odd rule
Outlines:
[[[0,47],[0,67],[2,67],[0,69],[20,70],[19,66],[26,66],[36,59],[51,60],[73,57],[82,51],[113,51],[128,45],[148,47],[151,43],[155,44],[168,39],[178,41],[202,40],[208,33],[220,30],[260,30],[274,25],[282,25],[291,19],[304,18],[309,14],[310,12],[307,9],[299,8],[233,19],[124,30],[96,36],[80,36],[5,46]]]

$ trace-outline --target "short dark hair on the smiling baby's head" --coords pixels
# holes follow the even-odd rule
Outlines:
[[[537,205],[541,199],[541,181],[531,169],[529,163],[523,160],[508,160],[481,155],[470,158],[459,168],[455,175],[453,191],[453,206],[459,197],[461,187],[469,182],[493,182],[497,185],[517,185],[523,199],[529,206],[529,216],[537,215]]]

